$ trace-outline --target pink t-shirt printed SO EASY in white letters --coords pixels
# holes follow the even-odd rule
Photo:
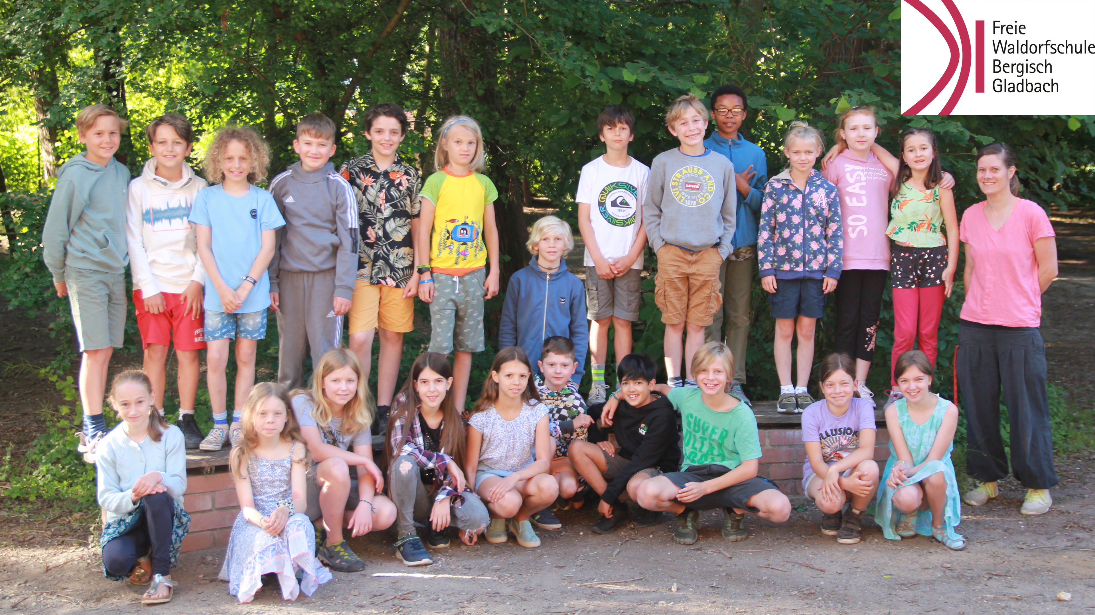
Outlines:
[[[837,186],[844,227],[844,267],[889,269],[889,188],[894,174],[873,153],[840,152],[821,176]]]

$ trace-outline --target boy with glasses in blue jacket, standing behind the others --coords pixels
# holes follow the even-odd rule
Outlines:
[[[734,163],[738,190],[737,222],[734,252],[723,262],[718,279],[723,281],[723,309],[716,310],[706,330],[706,341],[722,341],[725,313],[726,345],[734,353],[734,381],[730,393],[749,399],[741,391],[746,382],[746,347],[749,346],[749,295],[752,277],[757,270],[757,219],[760,201],[768,183],[768,160],[764,150],[746,140],[739,132],[749,117],[749,103],[745,91],[737,85],[719,85],[711,95],[711,120],[715,131],[703,144]]]

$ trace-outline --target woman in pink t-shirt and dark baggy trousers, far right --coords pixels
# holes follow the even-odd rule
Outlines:
[[[1037,204],[1016,198],[1015,153],[992,143],[977,153],[977,183],[986,200],[963,214],[966,302],[958,329],[958,383],[967,416],[966,466],[980,484],[963,500],[981,506],[1007,476],[1000,434],[1000,390],[1011,417],[1011,468],[1028,490],[1019,512],[1052,504],[1053,436],[1046,390],[1041,293],[1057,277],[1057,242]]]

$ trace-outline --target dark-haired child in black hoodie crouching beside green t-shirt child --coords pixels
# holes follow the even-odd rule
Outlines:
[[[615,432],[619,450],[611,442],[574,441],[567,456],[586,484],[601,497],[597,511],[601,519],[593,525],[597,534],[608,534],[627,521],[627,504],[620,501],[626,491],[632,500],[634,489],[644,480],[680,468],[677,415],[665,397],[655,396],[650,387],[657,368],[646,355],[631,353],[620,361],[619,401],[613,419],[603,419]],[[600,414],[597,404],[590,415]],[[639,509],[635,525],[643,527],[657,522],[657,513]]]

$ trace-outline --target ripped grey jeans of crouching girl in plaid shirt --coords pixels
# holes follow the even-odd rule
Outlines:
[[[415,519],[429,525],[436,489],[431,485],[423,485],[420,472],[422,468],[411,455],[400,455],[392,460],[388,472],[388,490],[395,502],[395,531],[400,537],[415,533]],[[491,521],[486,506],[472,491],[463,491],[461,496],[464,498],[463,503],[449,507],[449,524],[458,530],[485,529]]]

